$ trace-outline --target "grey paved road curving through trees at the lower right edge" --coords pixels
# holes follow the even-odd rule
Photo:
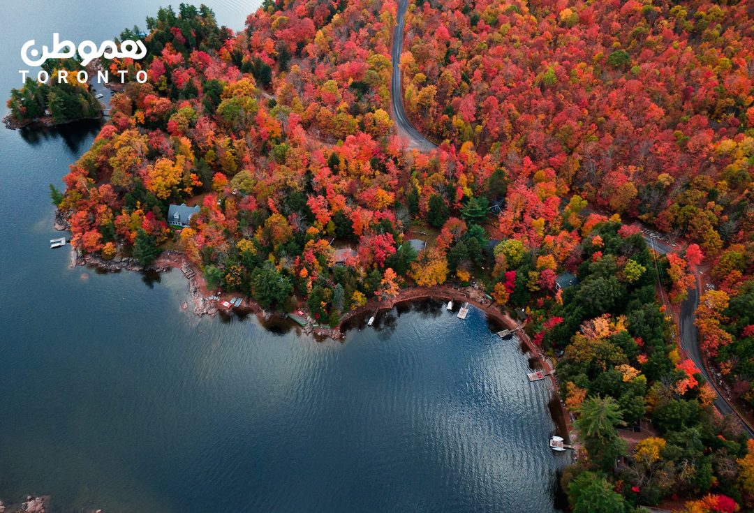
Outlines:
[[[646,235],[644,236],[644,240],[647,241],[647,244],[650,248],[659,253],[662,253],[663,255],[673,249],[667,244],[661,243],[656,239],[651,239]],[[723,415],[734,414],[740,421],[743,429],[749,434],[749,438],[754,438],[754,431],[752,431],[749,425],[743,421],[738,412],[733,409],[731,404],[728,402],[728,399],[725,398],[725,395],[722,395],[722,392],[720,392],[720,389],[717,387],[715,381],[710,379],[710,375],[707,374],[704,362],[702,360],[701,350],[699,349],[699,328],[694,325],[694,312],[696,312],[698,306],[699,281],[697,280],[696,286],[694,287],[694,289],[688,291],[688,298],[686,298],[685,301],[683,301],[683,303],[681,304],[681,317],[679,322],[681,347],[685,350],[686,353],[688,353],[689,358],[691,358],[691,361],[694,362],[694,365],[697,366],[702,376],[710,383],[710,385],[713,386],[713,389],[715,389],[715,392],[717,393],[717,398],[714,402],[715,408],[717,408],[718,411]]]

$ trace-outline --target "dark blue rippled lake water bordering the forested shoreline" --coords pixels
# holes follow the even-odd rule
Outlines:
[[[254,2],[207,2],[241,29]],[[159,2],[0,2],[0,96],[20,48],[103,41]],[[5,111],[5,108],[3,108]],[[554,511],[568,455],[547,381],[474,310],[421,303],[315,342],[195,319],[180,273],[101,275],[51,250],[48,184],[90,124],[0,129],[0,499],[54,511]],[[357,320],[357,322],[359,322]]]

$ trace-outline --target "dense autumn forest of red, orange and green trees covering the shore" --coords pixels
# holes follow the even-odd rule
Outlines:
[[[754,405],[754,3],[415,0],[403,35],[396,17],[267,0],[234,33],[161,9],[144,60],[103,63],[149,80],[115,93],[51,190],[72,244],[147,266],[177,250],[210,290],[333,326],[407,286],[477,282],[558,360],[586,454],[562,475],[574,511],[750,511],[754,442],[716,414],[673,315],[700,276],[703,353]],[[428,153],[391,118],[401,36]],[[9,105],[53,94],[27,83]],[[176,229],[181,203],[200,209]],[[638,223],[678,243],[660,255]],[[616,428],[642,420],[654,436],[628,445]]]

